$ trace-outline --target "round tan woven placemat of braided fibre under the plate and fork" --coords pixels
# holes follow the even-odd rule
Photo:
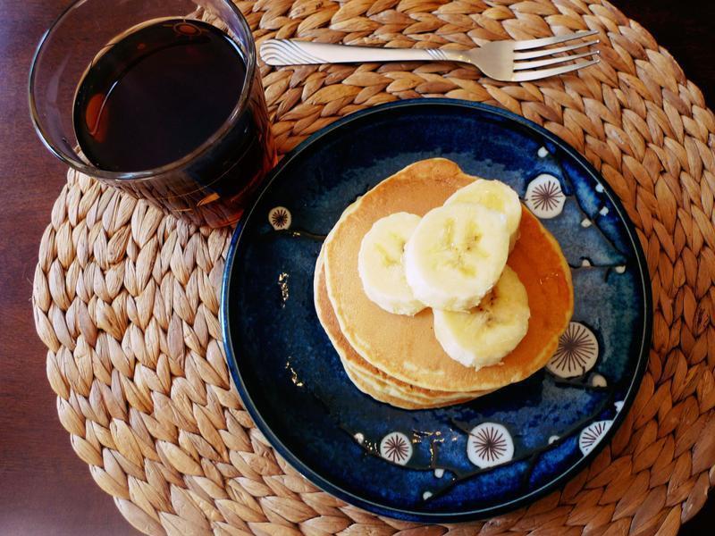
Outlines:
[[[636,22],[580,0],[240,2],[258,41],[474,46],[598,29],[601,63],[505,84],[455,63],[269,70],[281,152],[341,115],[416,96],[542,124],[618,192],[647,254],[653,345],[610,446],[563,490],[481,523],[420,527],[315,489],[276,456],[231,386],[217,320],[231,230],[198,230],[70,172],[42,237],[33,305],[71,445],[150,534],[674,534],[715,483],[715,118]]]

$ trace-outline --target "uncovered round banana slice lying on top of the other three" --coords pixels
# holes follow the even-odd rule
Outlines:
[[[455,203],[425,214],[405,249],[415,297],[435,309],[466,311],[492,289],[507,263],[506,217]]]

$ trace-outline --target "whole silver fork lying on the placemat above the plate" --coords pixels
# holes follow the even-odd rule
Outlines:
[[[328,45],[296,41],[293,39],[268,39],[261,45],[261,57],[269,65],[305,65],[307,63],[366,63],[366,62],[413,62],[439,60],[471,63],[485,75],[505,82],[526,82],[539,80],[565,72],[583,69],[598,63],[598,50],[588,50],[579,54],[554,55],[585,46],[596,45],[599,40],[545,48],[559,43],[587,38],[598,33],[596,30],[555,36],[553,38],[526,39],[522,41],[492,41],[472,50],[443,50],[441,48],[376,48],[372,46]],[[572,62],[582,58],[583,62],[570,63],[559,67],[548,67],[559,63]],[[544,58],[534,60],[534,58]],[[528,61],[527,61],[528,60]]]

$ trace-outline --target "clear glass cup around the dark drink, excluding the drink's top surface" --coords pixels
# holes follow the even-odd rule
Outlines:
[[[218,130],[181,158],[140,171],[102,169],[83,154],[75,132],[80,82],[122,38],[164,19],[188,21],[181,31],[203,21],[231,38],[245,63],[240,96]],[[275,164],[256,45],[230,0],[78,0],[40,41],[29,74],[29,107],[39,138],[64,163],[197,225],[236,222]]]

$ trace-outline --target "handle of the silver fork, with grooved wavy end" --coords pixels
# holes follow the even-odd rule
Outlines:
[[[261,45],[261,57],[269,65],[449,60],[445,51],[439,48],[374,48],[311,43],[294,39],[266,40]]]

